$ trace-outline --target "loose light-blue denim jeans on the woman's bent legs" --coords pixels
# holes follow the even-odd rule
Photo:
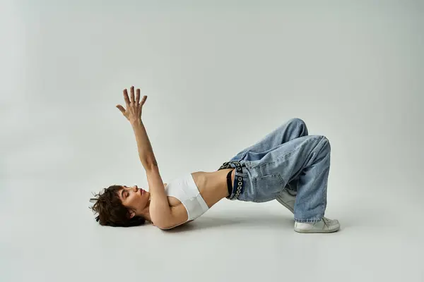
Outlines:
[[[225,163],[236,168],[228,198],[268,202],[286,188],[297,192],[295,221],[320,221],[326,209],[330,151],[326,137],[308,135],[305,122],[293,118]]]

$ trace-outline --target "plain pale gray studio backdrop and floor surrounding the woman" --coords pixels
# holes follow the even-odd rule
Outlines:
[[[1,281],[423,281],[423,1],[1,1]],[[147,180],[114,106],[135,85],[164,182],[289,118],[331,142],[330,235],[223,200],[175,231],[98,226]]]

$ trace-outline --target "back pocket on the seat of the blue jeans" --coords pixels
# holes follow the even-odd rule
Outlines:
[[[253,202],[269,202],[275,200],[283,190],[284,181],[280,174],[267,174],[254,178]]]

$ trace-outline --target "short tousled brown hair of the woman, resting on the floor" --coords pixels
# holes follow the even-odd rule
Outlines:
[[[98,214],[95,220],[102,226],[130,227],[143,225],[146,219],[142,216],[129,217],[129,210],[124,207],[118,196],[121,189],[121,185],[112,185],[96,193],[94,198],[90,199],[90,202],[95,202],[90,209]]]

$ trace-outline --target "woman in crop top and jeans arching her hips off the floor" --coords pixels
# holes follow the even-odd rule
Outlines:
[[[105,226],[137,226],[150,221],[170,229],[193,221],[223,198],[247,202],[278,200],[293,212],[300,233],[338,231],[337,220],[326,219],[326,186],[330,168],[329,140],[308,135],[305,123],[293,118],[257,144],[239,152],[218,171],[187,173],[164,184],[150,140],[141,121],[147,96],[124,90],[126,109],[119,111],[136,135],[148,192],[136,185],[112,185],[95,195],[97,221]],[[237,125],[236,125],[237,126]]]

